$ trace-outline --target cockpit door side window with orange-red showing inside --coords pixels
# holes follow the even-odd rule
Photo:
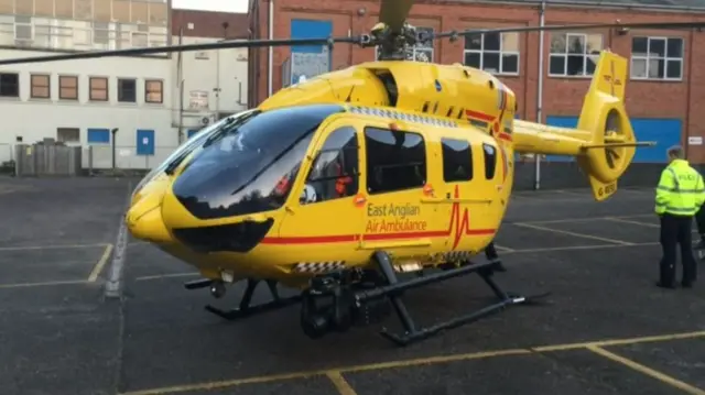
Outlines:
[[[355,128],[330,133],[308,171],[300,201],[314,204],[357,194],[358,149]]]

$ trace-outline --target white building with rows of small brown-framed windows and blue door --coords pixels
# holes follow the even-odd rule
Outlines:
[[[72,0],[35,1],[52,2],[51,12],[40,6],[28,10],[15,7],[12,12],[21,13],[17,15],[0,3],[0,58],[161,46],[170,40],[178,41],[178,35],[170,34],[172,10],[166,0],[73,0],[75,7],[63,13],[64,3]],[[77,20],[86,19],[87,12],[93,22]],[[194,11],[178,12],[186,18]],[[193,40],[213,39],[194,39],[184,32],[184,42]],[[0,117],[4,119],[0,162],[12,158],[12,146],[18,142],[55,139],[84,146],[84,167],[109,168],[115,136],[116,167],[149,168],[159,164],[189,129],[203,127],[204,118],[212,122],[218,109],[226,113],[242,109],[232,97],[237,100],[239,83],[247,83],[247,57],[239,61],[241,67],[236,66],[239,63],[232,53],[212,52],[208,57],[204,61],[184,53],[181,74],[176,54],[0,66]],[[181,96],[185,105],[183,125],[180,79],[185,81]],[[218,86],[221,91],[216,98],[214,89]]]

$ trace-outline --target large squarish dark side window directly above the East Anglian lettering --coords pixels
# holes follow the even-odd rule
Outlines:
[[[426,183],[426,150],[419,133],[365,128],[367,190],[383,194]]]

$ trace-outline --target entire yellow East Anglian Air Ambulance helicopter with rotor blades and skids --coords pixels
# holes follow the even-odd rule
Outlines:
[[[131,234],[195,266],[215,297],[247,281],[236,319],[301,303],[311,338],[391,312],[399,344],[530,301],[494,281],[499,260],[470,260],[491,245],[510,201],[514,153],[576,156],[596,200],[617,190],[637,146],[625,111],[627,59],[603,51],[576,129],[516,120],[517,98],[494,75],[459,64],[408,59],[417,42],[491,32],[681,29],[630,23],[480,29],[425,35],[405,23],[412,0],[383,0],[370,34],[343,39],[226,41],[62,54],[0,65],[226,47],[357,44],[380,61],[327,73],[228,117],[180,146],[134,189]],[[430,270],[440,270],[429,274]],[[400,274],[414,273],[402,279]],[[410,288],[470,273],[498,301],[419,327],[401,300]],[[274,297],[251,306],[265,282]],[[300,289],[279,296],[276,285]]]

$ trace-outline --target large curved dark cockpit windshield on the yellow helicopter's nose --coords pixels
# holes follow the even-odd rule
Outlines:
[[[214,219],[280,208],[299,174],[314,132],[334,105],[258,112],[202,140],[173,186],[197,218]]]

